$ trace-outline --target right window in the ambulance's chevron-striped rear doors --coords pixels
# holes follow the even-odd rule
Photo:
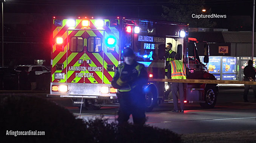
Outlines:
[[[89,37],[87,42],[87,50],[89,52],[99,52],[101,51],[101,38],[99,37]]]

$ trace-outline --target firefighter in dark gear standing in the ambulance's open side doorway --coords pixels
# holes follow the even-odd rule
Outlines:
[[[171,43],[167,43],[167,47],[165,50],[165,75],[167,76],[167,72],[168,72],[168,66],[170,64],[171,61],[174,60],[174,56],[176,54],[176,52],[174,52],[172,50],[173,45]],[[167,76],[168,77],[168,76]],[[171,92],[171,83],[168,83],[169,88],[165,91],[165,98],[168,99],[169,94]]]

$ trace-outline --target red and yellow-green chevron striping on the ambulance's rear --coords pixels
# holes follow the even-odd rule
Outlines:
[[[53,24],[52,32],[52,68],[51,68],[51,81],[59,83],[105,83],[110,84],[114,76],[113,71],[107,71],[107,65],[118,65],[119,59],[119,27],[96,27],[96,20],[89,20],[89,27],[82,27],[82,20],[76,20],[75,27],[67,26],[68,19],[62,20],[62,26],[57,27]],[[109,22],[108,19],[104,20],[105,23]],[[54,23],[54,21],[53,21]],[[76,30],[74,30],[76,29]],[[109,35],[115,36],[117,44],[113,53],[107,52],[105,38]],[[56,50],[56,38],[62,37],[64,39],[64,51]],[[83,51],[71,52],[69,41],[72,37],[83,38]],[[87,50],[87,40],[89,37],[99,37],[102,39],[102,50],[99,53],[91,53]],[[103,49],[104,48],[104,49]],[[104,52],[103,52],[104,51]],[[83,63],[78,61],[82,60]],[[86,60],[91,60],[91,63],[86,63]],[[56,70],[56,64],[62,63],[63,70]],[[78,68],[80,67],[80,68]],[[98,68],[94,68],[98,67]],[[101,67],[101,68],[100,68]],[[79,70],[74,70],[79,69]],[[95,70],[96,69],[96,70]],[[101,69],[101,70],[100,70]],[[60,72],[65,73],[65,78],[58,80],[55,79],[54,74]],[[83,75],[83,76],[81,76]]]

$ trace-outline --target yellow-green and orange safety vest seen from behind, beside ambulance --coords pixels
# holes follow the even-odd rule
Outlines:
[[[187,79],[186,78],[186,66],[179,60],[170,62],[171,65],[171,79]]]

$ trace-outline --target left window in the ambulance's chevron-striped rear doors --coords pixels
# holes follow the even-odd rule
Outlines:
[[[83,38],[82,37],[71,37],[69,48],[71,52],[82,52],[83,51]]]

